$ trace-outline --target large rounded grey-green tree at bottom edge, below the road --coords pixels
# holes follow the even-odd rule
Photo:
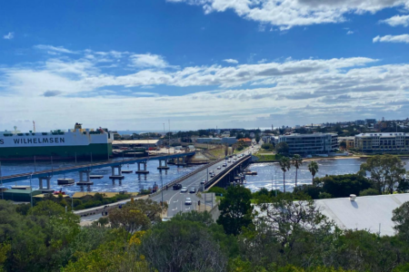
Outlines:
[[[156,225],[142,238],[140,252],[156,271],[225,271],[227,265],[210,230],[189,220]]]

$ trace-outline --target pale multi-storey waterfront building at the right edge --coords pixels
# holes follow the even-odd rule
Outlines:
[[[403,132],[361,133],[355,135],[355,148],[364,153],[407,153],[409,134]]]

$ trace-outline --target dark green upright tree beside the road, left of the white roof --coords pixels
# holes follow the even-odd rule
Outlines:
[[[220,202],[220,217],[217,224],[222,225],[226,234],[238,235],[242,228],[252,223],[252,192],[242,186],[230,186]]]

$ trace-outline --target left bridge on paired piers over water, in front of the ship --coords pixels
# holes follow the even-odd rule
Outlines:
[[[162,155],[162,156],[150,156],[150,157],[142,157],[142,158],[96,162],[96,163],[85,164],[85,165],[78,165],[78,166],[65,167],[65,168],[59,168],[59,169],[42,170],[42,171],[35,171],[35,172],[29,172],[29,173],[16,174],[12,176],[5,176],[5,177],[0,177],[0,180],[2,183],[8,183],[8,182],[15,182],[18,180],[38,179],[40,182],[40,189],[43,189],[43,180],[46,180],[46,189],[51,190],[50,180],[54,175],[60,175],[60,174],[77,171],[80,174],[79,175],[80,182],[83,185],[87,185],[87,184],[91,185],[93,182],[90,181],[90,172],[91,170],[94,170],[94,169],[111,167],[112,176],[110,176],[110,179],[121,180],[121,179],[124,179],[124,176],[122,176],[122,166],[124,164],[137,163],[138,170],[136,171],[136,173],[146,174],[148,173],[148,171],[146,170],[147,160],[159,160],[158,169],[168,169],[167,160],[170,160],[170,159],[175,159],[177,161],[182,160],[181,164],[185,164],[185,158],[191,157],[194,155],[195,155],[195,151],[192,151],[192,152],[169,154],[169,155]],[[162,162],[164,162],[165,164],[163,165]],[[141,165],[144,166],[144,170],[141,170]],[[115,170],[117,170],[117,174],[115,173]],[[84,173],[86,176],[86,180],[83,180]]]

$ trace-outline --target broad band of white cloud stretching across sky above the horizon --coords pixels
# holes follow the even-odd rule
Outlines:
[[[89,54],[95,59],[86,58]],[[160,129],[163,121],[170,118],[175,128],[199,129],[214,124],[263,126],[276,120],[292,124],[363,116],[405,118],[409,109],[409,63],[381,65],[365,57],[288,58],[270,63],[265,60],[266,63],[173,70],[152,69],[154,66],[149,64],[135,73],[125,61],[111,70],[98,63],[98,58],[115,56],[109,52],[78,51],[13,67],[0,61],[2,128],[15,125],[8,118],[11,111],[14,120],[35,120],[49,131],[56,128],[55,120],[58,128],[71,127],[72,120],[80,120],[86,127],[153,129],[157,124]],[[156,85],[161,85],[162,95],[169,96],[158,97],[158,93],[134,88]],[[178,86],[188,94],[173,93],[169,86]],[[191,86],[202,86],[208,91],[192,92]],[[62,112],[63,108],[69,109],[70,114]]]

